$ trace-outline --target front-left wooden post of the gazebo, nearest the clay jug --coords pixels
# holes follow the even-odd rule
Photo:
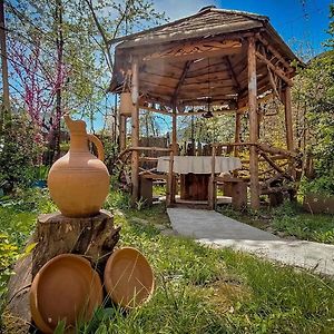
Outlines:
[[[139,91],[139,72],[138,72],[138,59],[132,59],[132,82],[131,82],[132,97]],[[135,94],[134,94],[135,92]],[[134,102],[134,101],[132,101]],[[138,98],[135,101],[136,108],[132,109],[132,131],[131,131],[131,146],[139,146],[139,104]],[[139,199],[139,153],[138,150],[132,150],[131,155],[131,205],[135,206],[136,202]]]

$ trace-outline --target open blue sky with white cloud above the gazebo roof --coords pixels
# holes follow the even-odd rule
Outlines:
[[[322,42],[328,38],[328,8],[333,0],[153,0],[170,21],[193,14],[214,4],[220,9],[249,11],[267,16],[285,42],[299,56],[311,49],[313,56],[324,51]]]

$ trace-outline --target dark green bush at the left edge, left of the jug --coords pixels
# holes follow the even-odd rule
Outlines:
[[[0,188],[4,194],[31,181],[31,168],[39,159],[42,144],[33,126],[21,115],[7,122],[0,136]]]

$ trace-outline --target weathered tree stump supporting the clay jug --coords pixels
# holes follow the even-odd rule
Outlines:
[[[37,243],[32,253],[14,266],[9,282],[6,333],[29,333],[31,314],[29,291],[35,275],[52,257],[72,253],[88,258],[100,274],[119,239],[120,227],[114,227],[109,212],[89,218],[69,218],[59,213],[40,215],[35,235],[28,244]]]

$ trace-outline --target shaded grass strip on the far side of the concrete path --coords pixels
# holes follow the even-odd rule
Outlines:
[[[263,208],[257,213],[238,213],[225,206],[219,212],[257,228],[271,228],[283,237],[334,244],[334,216],[305,213],[298,204],[286,202],[277,208]]]

